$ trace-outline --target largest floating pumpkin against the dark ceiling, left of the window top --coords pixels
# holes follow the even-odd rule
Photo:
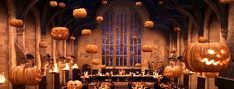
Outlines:
[[[73,16],[78,19],[86,18],[87,17],[87,11],[85,8],[79,8],[73,10]]]

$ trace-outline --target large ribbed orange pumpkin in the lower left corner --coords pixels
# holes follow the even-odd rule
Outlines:
[[[41,72],[37,68],[17,66],[10,70],[9,81],[15,85],[38,85],[41,81]]]

